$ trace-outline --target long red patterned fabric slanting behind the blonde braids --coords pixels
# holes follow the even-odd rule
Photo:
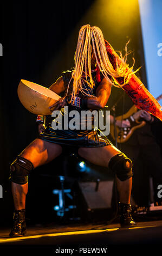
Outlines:
[[[118,63],[121,62],[121,58],[119,55],[114,51],[113,47],[105,40],[106,50],[111,61],[113,68],[116,69],[116,61]],[[119,84],[124,83],[124,77],[116,78],[116,81]],[[139,78],[133,74],[131,79],[129,80],[128,84],[122,86],[122,89],[128,94],[128,96],[133,101],[134,105],[137,108],[143,109],[155,117],[159,118],[162,121],[162,111],[161,106],[157,100],[152,96],[150,92],[146,89],[144,84],[139,80]]]

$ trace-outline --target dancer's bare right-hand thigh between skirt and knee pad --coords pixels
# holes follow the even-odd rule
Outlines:
[[[121,151],[115,148],[113,145],[108,145],[101,148],[79,148],[78,154],[92,162],[98,164],[99,166],[108,167],[109,160]]]

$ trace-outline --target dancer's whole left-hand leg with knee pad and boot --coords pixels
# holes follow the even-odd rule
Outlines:
[[[62,153],[58,144],[35,139],[11,164],[12,195],[14,199],[14,225],[11,237],[22,236],[26,232],[25,197],[28,191],[27,175],[33,168],[41,166],[55,159]]]

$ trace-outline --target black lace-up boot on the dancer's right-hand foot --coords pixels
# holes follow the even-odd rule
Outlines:
[[[132,217],[131,204],[119,203],[119,211],[121,228],[132,228],[136,226],[136,223],[134,222]]]

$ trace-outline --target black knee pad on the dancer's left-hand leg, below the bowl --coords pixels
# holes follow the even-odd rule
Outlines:
[[[10,180],[17,184],[23,185],[27,183],[27,175],[33,170],[33,163],[24,157],[17,156],[16,160],[11,164]]]

